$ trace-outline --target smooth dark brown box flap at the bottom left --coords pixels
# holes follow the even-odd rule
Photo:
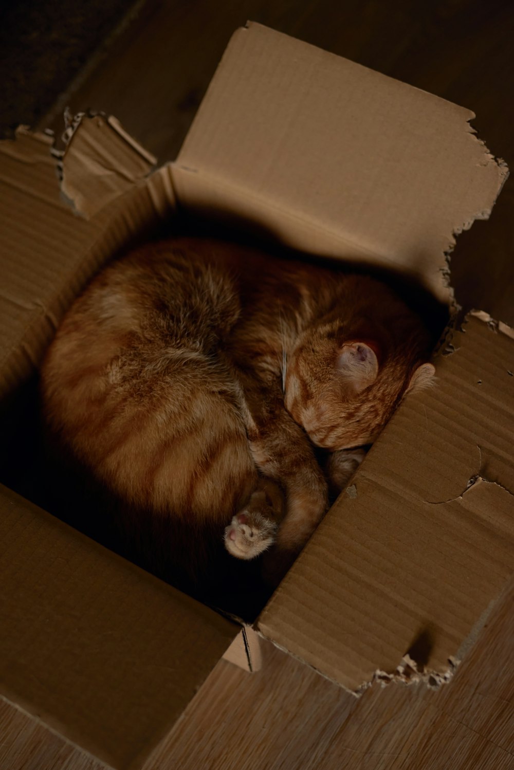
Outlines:
[[[0,487],[0,694],[138,768],[239,626]]]

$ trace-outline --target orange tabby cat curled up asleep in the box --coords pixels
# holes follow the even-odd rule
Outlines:
[[[42,400],[83,467],[166,523],[170,560],[202,579],[224,538],[240,559],[268,551],[276,577],[325,514],[328,480],[342,487],[355,447],[431,380],[429,343],[372,278],[172,239],[112,263],[76,300]]]

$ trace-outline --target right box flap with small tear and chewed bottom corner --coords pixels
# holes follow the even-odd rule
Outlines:
[[[470,317],[258,628],[350,691],[452,674],[514,570],[514,340]]]

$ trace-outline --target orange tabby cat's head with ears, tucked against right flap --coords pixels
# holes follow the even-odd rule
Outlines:
[[[299,340],[285,373],[285,408],[313,444],[331,451],[371,444],[399,401],[433,382],[412,341],[384,350],[377,339],[337,340],[317,330]]]

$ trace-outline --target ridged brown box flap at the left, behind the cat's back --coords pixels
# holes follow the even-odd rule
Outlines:
[[[156,172],[86,221],[62,199],[51,151],[50,137],[22,128],[0,142],[0,397],[38,366],[95,269],[174,206],[169,175]]]

